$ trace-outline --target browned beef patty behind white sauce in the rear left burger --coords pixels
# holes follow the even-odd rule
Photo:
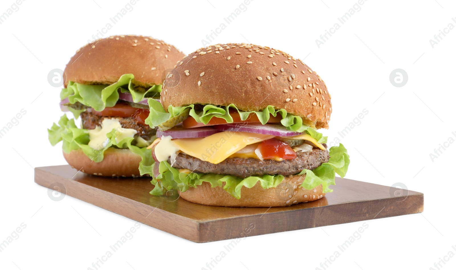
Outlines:
[[[101,126],[101,122],[103,122],[103,120],[107,118],[119,119],[119,123],[124,129],[136,130],[138,132],[136,135],[141,136],[144,140],[150,140],[150,137],[155,135],[157,131],[156,129],[150,128],[149,125],[143,125],[139,123],[137,119],[133,118],[99,116],[89,112],[81,113],[81,121],[83,124],[83,128],[87,130],[93,130],[95,127]]]

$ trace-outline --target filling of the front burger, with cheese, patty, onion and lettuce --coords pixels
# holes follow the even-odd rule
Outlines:
[[[301,187],[322,185],[323,192],[332,192],[335,174],[347,171],[343,145],[328,150],[326,137],[284,109],[244,112],[233,104],[209,104],[170,106],[166,113],[154,100],[149,106],[145,122],[158,126],[158,138],[148,147],[155,164],[140,171],[152,174],[153,195],[210,182],[240,198],[243,186],[276,187],[296,174],[305,175]]]

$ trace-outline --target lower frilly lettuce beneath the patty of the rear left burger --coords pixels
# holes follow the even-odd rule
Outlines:
[[[62,149],[65,153],[82,149],[84,154],[95,162],[103,161],[104,151],[109,147],[115,147],[129,149],[131,152],[139,155],[141,157],[140,166],[151,167],[154,163],[152,153],[149,149],[131,144],[135,140],[134,138],[124,138],[117,142],[115,130],[112,130],[106,135],[109,141],[102,150],[93,149],[88,146],[90,140],[88,130],[78,128],[74,123],[74,119],[68,119],[66,114],[60,118],[58,125],[54,123],[47,132],[51,145],[54,146],[59,141],[63,141]]]

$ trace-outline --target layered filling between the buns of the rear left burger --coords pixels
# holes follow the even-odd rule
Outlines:
[[[153,159],[145,147],[155,140],[155,128],[145,124],[149,115],[148,98],[159,95],[160,85],[145,87],[125,74],[111,85],[69,82],[62,89],[61,108],[81,116],[81,128],[63,115],[48,130],[52,145],[63,141],[63,151],[82,149],[93,161],[103,161],[109,147],[129,149],[141,156],[140,164],[151,166]]]

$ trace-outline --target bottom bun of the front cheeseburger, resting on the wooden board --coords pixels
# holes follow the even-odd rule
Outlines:
[[[315,201],[325,196],[326,193],[323,193],[321,185],[312,190],[300,187],[305,177],[305,175],[286,176],[277,187],[268,189],[261,187],[260,182],[251,188],[242,187],[240,199],[231,196],[223,187],[211,187],[208,182],[202,182],[201,186],[190,187],[186,192],[179,192],[179,194],[192,203],[237,207],[288,206]]]

